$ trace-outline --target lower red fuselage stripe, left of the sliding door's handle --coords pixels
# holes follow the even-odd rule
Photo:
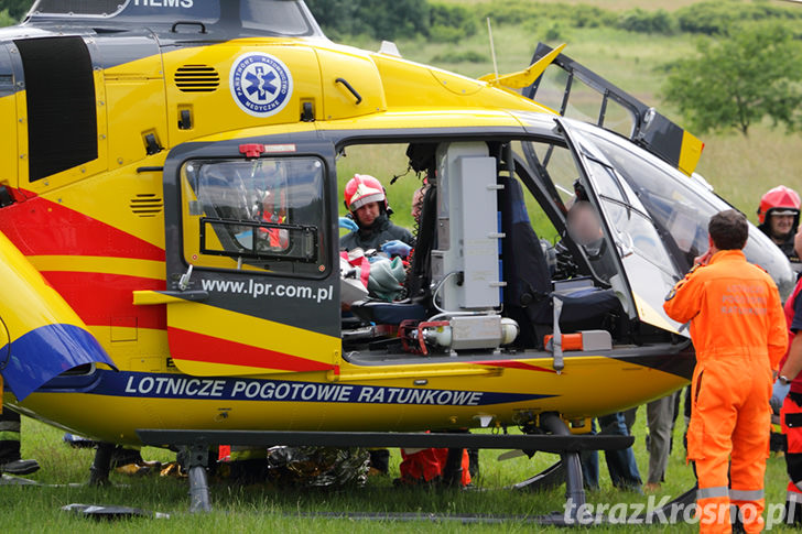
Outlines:
[[[136,326],[164,330],[166,306],[134,306],[133,291],[163,291],[163,280],[121,274],[45,271],[45,280],[87,326]],[[136,322],[130,319],[136,318]],[[124,320],[129,319],[129,320]]]

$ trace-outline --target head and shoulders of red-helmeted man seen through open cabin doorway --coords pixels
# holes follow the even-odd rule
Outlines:
[[[381,250],[407,258],[414,246],[412,232],[393,225],[388,217],[384,187],[375,177],[355,174],[345,186],[345,207],[356,221],[356,229],[339,239],[344,250]]]

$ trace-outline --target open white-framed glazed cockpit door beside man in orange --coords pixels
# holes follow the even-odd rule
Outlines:
[[[681,273],[649,212],[605,155],[570,121],[555,119],[584,174],[581,182],[588,200],[602,215],[624,268],[632,301],[641,322],[681,334],[680,324],[669,318],[662,304]],[[588,187],[589,186],[589,187]],[[618,291],[619,287],[615,286]],[[687,336],[687,334],[684,334]]]

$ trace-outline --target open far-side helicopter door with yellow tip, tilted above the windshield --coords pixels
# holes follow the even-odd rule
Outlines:
[[[553,48],[539,43],[532,63]],[[654,108],[616,87],[565,54],[559,54],[523,96],[561,116],[617,132],[686,175],[693,174],[704,143]]]

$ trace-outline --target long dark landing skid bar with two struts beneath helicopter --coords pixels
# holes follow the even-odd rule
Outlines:
[[[617,450],[632,445],[631,436],[573,435],[555,413],[540,415],[537,434],[464,434],[393,432],[285,432],[285,431],[137,431],[143,445],[181,446],[188,450],[191,512],[210,511],[206,466],[208,447],[242,446],[322,446],[322,447],[399,447],[399,448],[477,448],[540,450],[561,455],[564,471],[566,524],[576,524],[577,510],[585,504],[582,465],[583,450]],[[449,455],[451,456],[451,455]],[[553,514],[552,514],[553,515]]]

